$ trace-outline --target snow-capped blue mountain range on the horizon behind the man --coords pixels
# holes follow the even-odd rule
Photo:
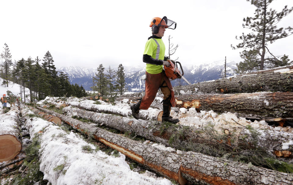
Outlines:
[[[222,69],[224,69],[225,61],[215,61],[212,63],[206,63],[201,65],[184,65],[184,77],[191,83],[197,83],[201,81],[209,81],[216,80],[221,78],[220,74]],[[226,64],[227,76],[233,75],[233,69],[236,69],[236,62],[227,61]],[[96,68],[82,68],[78,66],[65,66],[61,68],[57,68],[57,71],[64,72],[68,75],[70,82],[75,84],[82,85],[85,90],[90,90],[92,86],[92,77],[95,76]],[[117,67],[114,68],[117,71]],[[124,67],[125,70],[125,82],[128,87],[128,91],[131,92],[140,92],[145,89],[145,82],[140,80],[140,77],[145,74],[145,66],[140,67]],[[105,69],[105,73],[107,71]],[[185,81],[182,79],[176,79],[171,81],[173,86],[178,86],[179,83],[181,85],[187,85]]]

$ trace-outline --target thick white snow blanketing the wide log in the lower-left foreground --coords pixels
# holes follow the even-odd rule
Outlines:
[[[40,142],[40,171],[44,179],[55,185],[89,185],[89,184],[129,184],[129,185],[172,185],[162,177],[154,177],[133,172],[125,162],[125,156],[109,156],[102,151],[95,151],[95,146],[85,142],[73,132],[67,133],[59,126],[31,118],[33,114],[24,108],[26,128],[31,140],[37,137]],[[91,152],[83,149],[88,147]],[[60,170],[54,170],[57,166]],[[150,173],[149,173],[150,174]]]

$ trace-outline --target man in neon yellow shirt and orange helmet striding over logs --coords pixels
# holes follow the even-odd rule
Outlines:
[[[166,60],[170,59],[165,57],[165,44],[162,41],[166,28],[175,29],[176,22],[167,19],[166,16],[154,17],[150,27],[153,35],[148,38],[143,52],[143,62],[147,63],[145,95],[136,104],[130,106],[132,115],[139,119],[139,110],[147,110],[156,98],[158,89],[161,88],[164,94],[162,122],[178,123],[179,119],[170,116],[171,106],[175,107],[175,97],[171,82],[163,70],[163,66],[169,67],[170,64]]]

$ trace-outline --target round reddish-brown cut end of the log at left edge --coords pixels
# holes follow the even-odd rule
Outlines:
[[[0,135],[0,162],[9,161],[21,150],[21,142],[13,135]]]

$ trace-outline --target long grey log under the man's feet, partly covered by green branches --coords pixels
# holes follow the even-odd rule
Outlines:
[[[196,147],[193,146],[204,144],[206,145],[205,147],[207,147],[205,154],[209,154],[212,148],[219,149],[219,147],[222,147],[219,145],[217,140],[211,137],[211,135],[203,132],[202,128],[179,128],[177,125],[164,125],[162,122],[157,121],[129,119],[121,116],[96,113],[70,107],[63,108],[63,112],[74,113],[74,115],[78,115],[81,118],[90,119],[95,123],[103,124],[104,126],[115,128],[123,132],[135,132],[137,135],[140,135],[146,139],[160,142],[166,146],[172,146],[184,151],[195,151]],[[237,132],[239,133],[236,133],[238,136],[236,139],[234,139],[236,141],[233,143],[233,146],[241,146],[243,147],[243,150],[253,149],[253,146],[249,143],[249,140],[251,140],[249,139],[251,134],[249,134],[247,129],[242,129],[242,131]],[[256,132],[258,132],[258,130],[256,130]],[[264,148],[265,151],[268,151],[267,154],[273,158],[280,156],[269,151],[282,150],[283,142],[289,142],[293,138],[292,133],[286,133],[286,135],[284,135],[284,132],[271,130],[261,130],[259,132],[262,134],[262,137],[255,141],[258,143],[256,147]],[[231,135],[231,131],[228,129],[224,129],[224,133],[226,135]],[[246,135],[248,138],[244,138],[244,135]],[[228,150],[233,150],[233,146],[231,146],[230,141],[227,140],[226,142],[228,145],[225,145],[225,147],[228,147]],[[290,149],[289,151],[292,152],[293,149]],[[292,158],[279,159],[293,163]]]

